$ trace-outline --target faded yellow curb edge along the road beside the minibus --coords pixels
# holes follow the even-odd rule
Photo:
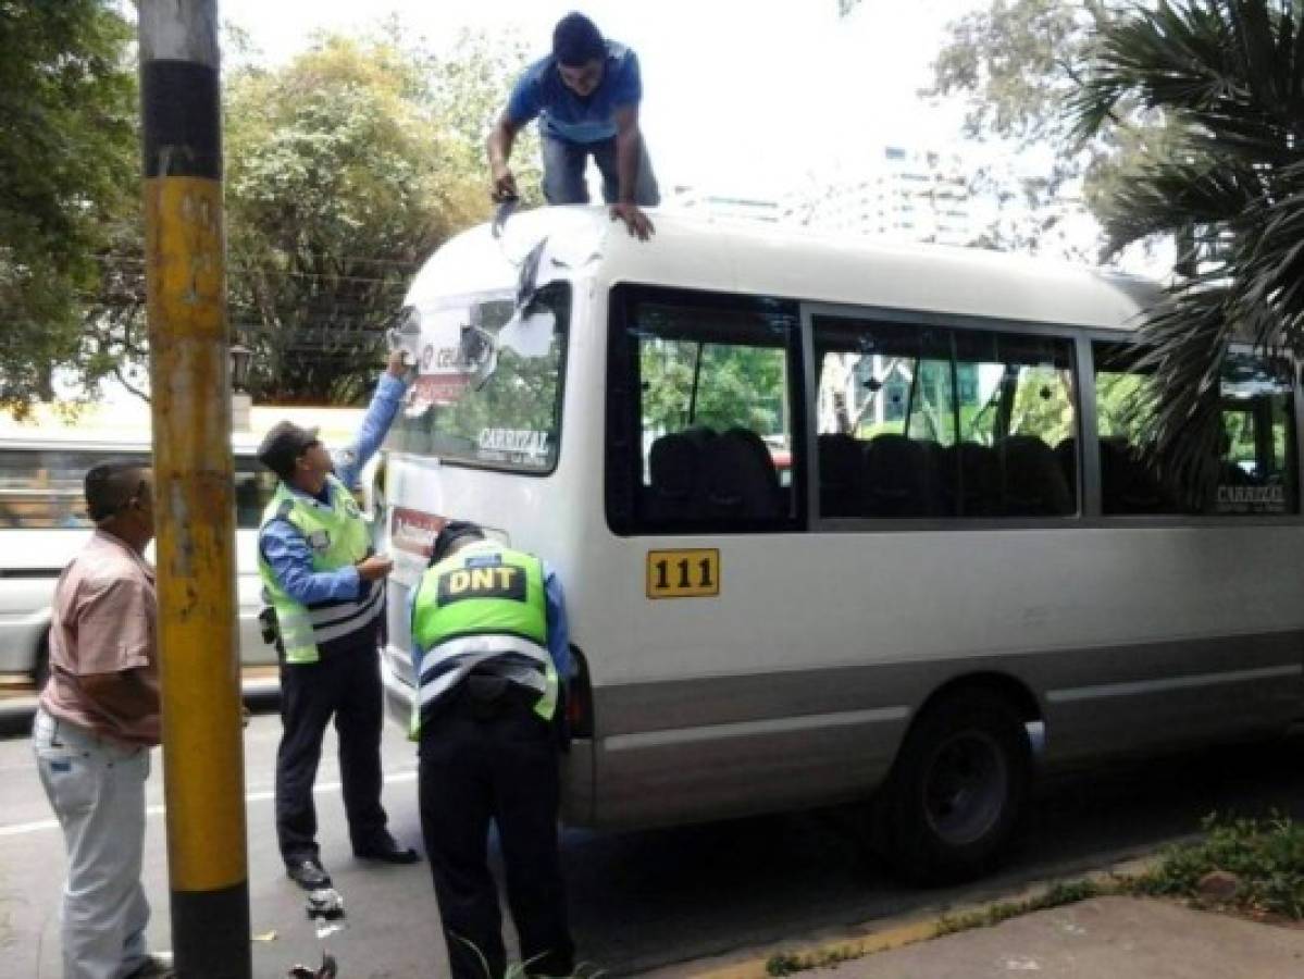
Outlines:
[[[956,919],[981,916],[1005,905],[1033,901],[1045,897],[1056,886],[1082,883],[1104,884],[1120,877],[1140,876],[1157,862],[1158,856],[1153,854],[1121,860],[1101,869],[1037,881],[1000,897],[927,911],[926,916],[911,916],[900,924],[889,924],[882,931],[872,931],[867,935],[827,939],[810,944],[794,942],[790,948],[776,944],[769,946],[767,953],[742,962],[712,966],[700,971],[694,970],[691,966],[681,967],[682,971],[679,975],[685,976],[685,979],[771,979],[773,974],[769,971],[769,965],[778,956],[794,961],[793,967],[785,974],[833,967],[850,959],[866,958],[880,952],[915,945],[921,941],[931,941],[932,939],[941,937],[945,926]],[[971,927],[983,926],[974,924]],[[961,931],[964,929],[966,928]]]

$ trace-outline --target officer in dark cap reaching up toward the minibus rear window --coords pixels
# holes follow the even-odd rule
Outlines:
[[[344,812],[355,855],[413,863],[381,807],[383,718],[378,639],[385,577],[349,489],[379,448],[406,390],[403,355],[390,356],[357,441],[334,460],[316,429],[273,428],[258,459],[280,484],[262,515],[258,570],[275,613],[282,737],[276,751],[276,838],[300,886],[330,886],[317,847],[313,781],[331,717],[339,734]]]

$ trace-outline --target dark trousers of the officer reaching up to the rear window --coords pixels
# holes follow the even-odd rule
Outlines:
[[[314,664],[280,661],[280,721],[276,751],[276,838],[286,863],[317,858],[313,782],[331,717],[339,735],[339,773],[353,849],[383,838],[381,808],[381,661],[376,632],[333,649]]]

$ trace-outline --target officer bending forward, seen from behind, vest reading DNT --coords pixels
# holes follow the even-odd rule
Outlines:
[[[571,665],[561,583],[539,558],[485,540],[472,523],[449,523],[412,596],[412,643],[421,834],[452,979],[506,972],[490,820],[526,971],[570,975],[557,845]]]

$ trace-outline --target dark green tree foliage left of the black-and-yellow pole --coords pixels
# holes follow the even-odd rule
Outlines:
[[[111,368],[83,325],[138,212],[133,35],[110,0],[0,0],[0,408]]]

